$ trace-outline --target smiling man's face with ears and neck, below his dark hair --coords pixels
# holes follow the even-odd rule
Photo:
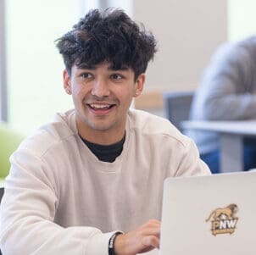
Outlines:
[[[72,94],[80,135],[96,142],[92,136],[107,134],[107,143],[119,141],[132,97],[141,93],[144,80],[144,74],[135,81],[132,69],[116,70],[105,62],[93,67],[74,65],[71,75],[64,70],[64,88]]]

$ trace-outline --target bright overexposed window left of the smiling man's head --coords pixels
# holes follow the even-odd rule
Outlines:
[[[118,6],[129,8],[126,2],[131,1]],[[3,0],[0,3],[3,4]],[[1,104],[7,104],[8,122],[12,127],[26,135],[52,119],[56,112],[73,107],[71,97],[62,89],[64,64],[54,40],[70,30],[89,9],[104,8],[104,4],[116,6],[118,3],[103,0],[5,1],[8,95],[3,91],[7,100],[2,100]]]

